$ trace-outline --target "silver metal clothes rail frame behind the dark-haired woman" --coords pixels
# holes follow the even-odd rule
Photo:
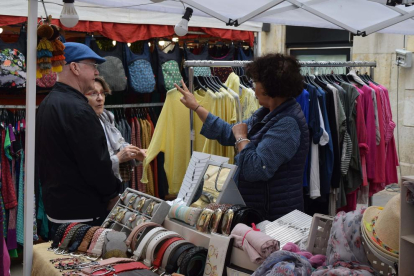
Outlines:
[[[189,90],[194,94],[194,67],[245,67],[251,61],[216,61],[216,60],[186,60],[185,67],[188,68],[188,84]],[[369,67],[370,75],[374,77],[374,67],[377,67],[376,61],[299,61],[302,67]],[[195,139],[193,125],[194,111],[190,110],[190,141],[191,153],[193,152],[193,144]]]

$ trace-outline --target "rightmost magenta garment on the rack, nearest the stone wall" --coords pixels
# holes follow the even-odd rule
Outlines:
[[[388,90],[380,85],[382,90],[384,91],[385,95],[385,103],[386,109],[388,112],[389,123],[387,130],[385,132],[385,142],[386,142],[386,160],[385,160],[385,176],[386,176],[386,184],[398,183],[398,174],[397,174],[397,166],[399,166],[398,162],[398,155],[397,149],[395,145],[395,138],[394,138],[394,129],[396,124],[392,120],[392,111],[391,111],[391,104],[390,98],[388,94]]]

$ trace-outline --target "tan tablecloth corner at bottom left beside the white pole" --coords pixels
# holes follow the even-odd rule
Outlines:
[[[56,269],[50,260],[65,258],[64,255],[56,255],[53,251],[47,251],[50,242],[33,246],[32,276],[62,276],[62,272]]]

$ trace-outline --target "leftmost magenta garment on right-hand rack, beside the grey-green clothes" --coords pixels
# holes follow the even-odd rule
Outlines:
[[[356,87],[358,90],[360,97],[356,99],[356,127],[357,127],[357,138],[358,138],[358,145],[359,145],[359,156],[361,158],[361,170],[362,170],[362,185],[368,185],[368,178],[367,178],[367,163],[366,163],[366,155],[369,152],[369,147],[367,144],[367,127],[365,125],[365,116],[364,116],[364,92]]]

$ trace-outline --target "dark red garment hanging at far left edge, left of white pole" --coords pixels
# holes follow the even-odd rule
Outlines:
[[[6,140],[6,131],[4,128],[1,131],[1,194],[3,196],[4,207],[6,209],[13,209],[17,206],[16,191],[12,181],[10,163],[4,152],[4,141]]]

